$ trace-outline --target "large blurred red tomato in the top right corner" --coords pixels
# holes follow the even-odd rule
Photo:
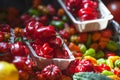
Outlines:
[[[114,16],[114,20],[120,23],[120,1],[111,1],[107,7]]]

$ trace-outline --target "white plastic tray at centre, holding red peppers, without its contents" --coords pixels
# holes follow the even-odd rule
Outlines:
[[[44,57],[40,57],[35,53],[34,49],[32,48],[29,42],[25,42],[25,43],[31,51],[31,54],[30,54],[31,58],[36,62],[39,69],[43,69],[49,64],[55,64],[61,70],[65,70],[70,64],[70,62],[75,59],[65,43],[63,43],[63,47],[68,51],[69,59],[62,59],[62,58],[46,59]]]

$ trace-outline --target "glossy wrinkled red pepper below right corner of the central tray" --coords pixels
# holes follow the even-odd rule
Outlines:
[[[73,75],[76,72],[94,72],[94,66],[89,60],[73,60],[68,68],[66,69],[66,73],[68,75]]]

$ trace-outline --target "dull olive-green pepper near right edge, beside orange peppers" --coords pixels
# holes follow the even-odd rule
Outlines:
[[[119,46],[115,41],[110,40],[106,46],[106,48],[110,51],[117,51]]]

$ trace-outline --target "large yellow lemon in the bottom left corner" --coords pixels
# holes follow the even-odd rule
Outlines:
[[[0,80],[19,80],[19,73],[14,64],[0,61]]]

